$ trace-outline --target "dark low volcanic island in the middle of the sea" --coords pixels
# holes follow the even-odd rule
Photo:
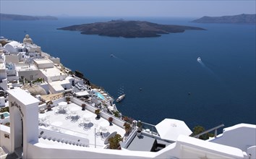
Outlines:
[[[83,25],[61,27],[58,30],[80,31],[86,35],[104,35],[124,38],[159,37],[161,34],[183,33],[185,30],[205,30],[200,27],[182,25],[158,25],[145,21],[111,20],[109,22],[95,22]]]

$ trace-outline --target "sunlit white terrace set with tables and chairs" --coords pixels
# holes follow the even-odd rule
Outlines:
[[[104,148],[106,137],[113,132],[124,136],[124,121],[113,119],[113,126],[109,126],[108,113],[101,112],[101,119],[95,119],[95,107],[87,106],[82,111],[82,101],[72,98],[67,104],[64,98],[55,101],[52,111],[38,114],[39,142],[49,145],[63,145],[70,143],[85,147]],[[39,106],[43,111],[46,105]],[[63,143],[64,142],[64,143]]]

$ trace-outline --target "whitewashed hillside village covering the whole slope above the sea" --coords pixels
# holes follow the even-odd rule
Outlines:
[[[0,158],[256,158],[255,125],[201,140],[184,121],[129,121],[111,95],[29,35],[0,43],[0,108],[9,109],[0,113]]]

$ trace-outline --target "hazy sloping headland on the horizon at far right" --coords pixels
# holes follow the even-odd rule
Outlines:
[[[201,17],[200,19],[193,20],[192,22],[200,23],[244,23],[244,24],[255,24],[256,14],[239,14],[232,16],[222,17]]]

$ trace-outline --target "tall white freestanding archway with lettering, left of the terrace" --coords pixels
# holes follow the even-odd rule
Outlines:
[[[38,99],[20,88],[7,90],[9,94],[11,152],[23,146],[27,158],[27,144],[38,142]]]

